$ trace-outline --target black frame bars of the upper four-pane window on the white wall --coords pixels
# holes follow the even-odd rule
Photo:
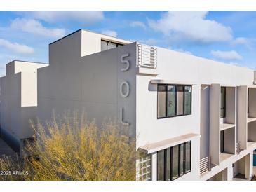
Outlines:
[[[161,118],[173,118],[178,116],[190,116],[192,114],[192,85],[175,85],[175,84],[157,84],[157,92],[159,92],[159,85],[165,86],[165,92],[166,92],[166,116],[159,117],[159,94],[157,94],[157,110],[156,110],[156,116],[157,119]],[[168,86],[174,86],[175,87],[175,115],[174,116],[168,116]],[[182,86],[183,87],[183,114],[177,115],[177,87]],[[190,114],[184,114],[185,112],[185,87],[191,88],[191,97],[190,97]]]

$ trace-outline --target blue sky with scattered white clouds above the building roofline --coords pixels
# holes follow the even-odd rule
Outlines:
[[[0,76],[77,29],[256,69],[256,11],[0,11]]]

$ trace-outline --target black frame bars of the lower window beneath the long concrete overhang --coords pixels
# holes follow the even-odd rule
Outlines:
[[[187,158],[187,154],[186,154],[186,148],[187,148],[187,143],[190,143],[190,146],[189,146],[189,159],[190,159],[190,162],[189,162],[189,171],[186,170],[186,158]],[[181,174],[180,172],[180,162],[181,162],[181,159],[180,159],[180,147],[182,146],[183,144],[183,172]],[[192,142],[191,140],[190,141],[187,141],[187,142],[184,142],[184,143],[181,143],[181,144],[177,144],[175,146],[178,146],[178,177],[176,177],[175,179],[173,179],[173,147],[175,146],[171,146],[167,149],[170,149],[170,175],[168,177],[170,177],[170,181],[174,181],[180,177],[183,177],[185,174],[191,172],[191,145],[192,145]],[[168,162],[168,160],[166,160],[166,156],[167,156],[167,149],[163,149],[161,151],[163,151],[163,181],[168,181],[166,178],[166,163]],[[158,151],[159,152],[159,151]],[[157,153],[158,153],[157,152]],[[156,165],[158,166],[158,160],[159,158],[156,159],[157,160],[157,163]],[[159,181],[159,174],[158,174],[158,170],[159,170],[159,167],[156,167],[156,170],[157,170],[157,173],[156,173],[156,176],[157,176],[157,180]]]

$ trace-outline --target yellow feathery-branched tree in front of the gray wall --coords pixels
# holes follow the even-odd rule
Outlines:
[[[81,119],[81,120],[79,120]],[[116,123],[98,128],[85,118],[58,118],[46,127],[37,123],[33,144],[27,144],[22,166],[10,159],[0,160],[0,170],[23,170],[22,177],[4,180],[135,180],[135,140]],[[6,161],[7,160],[7,161]],[[22,168],[20,168],[22,167]]]

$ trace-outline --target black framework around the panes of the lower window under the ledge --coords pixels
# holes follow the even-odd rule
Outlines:
[[[177,156],[178,156],[178,165],[177,165],[177,175],[173,175],[173,148],[178,147],[178,152],[177,152]],[[189,157],[187,157],[187,147],[189,147]],[[183,149],[182,149],[183,148]],[[182,154],[181,154],[181,149],[182,149]],[[170,159],[167,159],[168,153],[167,151],[170,151]],[[157,152],[157,180],[158,181],[174,181],[175,179],[178,179],[182,176],[184,176],[184,174],[187,174],[189,172],[191,172],[191,141],[188,142],[184,142],[182,144],[178,144],[176,146],[171,146],[170,148],[167,149],[163,149],[161,151]],[[163,159],[161,159],[161,163],[163,163],[163,165],[161,165],[161,169],[163,168],[163,175],[159,175],[159,153],[161,153],[161,155],[163,155]],[[183,159],[181,159],[181,156],[183,156]],[[189,159],[189,166],[187,167],[187,159]],[[167,163],[170,163],[170,165],[167,165]],[[182,167],[181,167],[182,166]],[[170,170],[167,170],[167,167],[170,167]],[[181,171],[182,170],[182,171]],[[167,172],[169,172],[169,174],[167,174]],[[159,178],[159,176],[161,178]]]

